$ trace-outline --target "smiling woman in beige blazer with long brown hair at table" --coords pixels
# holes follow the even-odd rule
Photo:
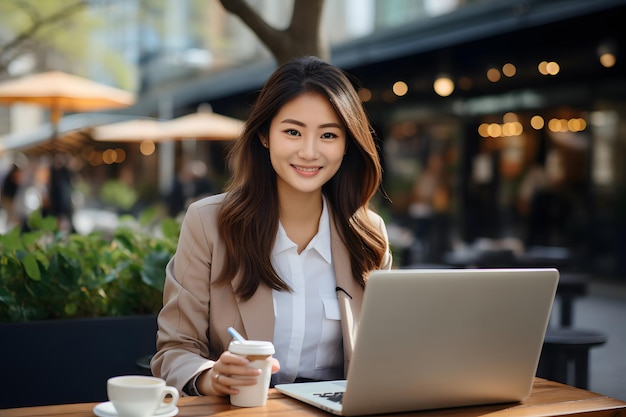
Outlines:
[[[225,351],[231,326],[273,342],[272,384],[345,375],[367,276],[392,262],[369,210],[382,176],[371,132],[340,69],[302,57],[270,76],[231,149],[227,192],[187,210],[156,376],[192,395],[255,384],[258,370]]]

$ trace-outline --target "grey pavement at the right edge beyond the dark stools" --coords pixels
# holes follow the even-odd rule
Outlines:
[[[592,279],[589,294],[575,301],[573,324],[608,337],[591,350],[589,390],[626,401],[626,277]]]

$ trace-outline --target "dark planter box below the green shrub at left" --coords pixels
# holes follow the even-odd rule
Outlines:
[[[0,323],[0,408],[106,401],[107,378],[149,373],[156,331],[154,315]]]

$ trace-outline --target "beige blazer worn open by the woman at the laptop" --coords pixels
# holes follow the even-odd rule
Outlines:
[[[234,327],[247,339],[273,340],[274,307],[272,290],[259,286],[247,301],[235,296],[241,276],[231,285],[215,280],[224,265],[225,248],[218,235],[217,213],[224,194],[204,198],[190,205],[182,223],[176,254],[166,268],[163,309],[159,313],[157,353],[152,373],[182,392],[191,378],[210,369],[228,348]],[[370,212],[375,224],[387,238],[385,224]],[[359,325],[363,289],[355,282],[348,251],[339,238],[331,218],[331,251],[341,311],[344,346],[344,371],[347,371]],[[273,245],[274,242],[266,242]],[[382,268],[391,268],[387,249]]]

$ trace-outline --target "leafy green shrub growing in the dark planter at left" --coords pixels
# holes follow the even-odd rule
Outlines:
[[[112,232],[60,232],[34,213],[31,231],[0,235],[0,321],[155,314],[180,224],[120,218]]]

